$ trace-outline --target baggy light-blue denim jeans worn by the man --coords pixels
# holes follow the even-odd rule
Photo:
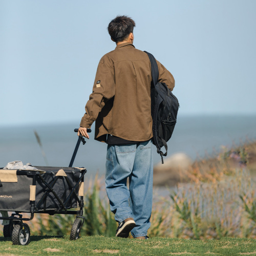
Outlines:
[[[108,145],[105,185],[115,220],[120,223],[133,218],[136,226],[131,231],[132,236],[146,236],[152,212],[152,140]]]

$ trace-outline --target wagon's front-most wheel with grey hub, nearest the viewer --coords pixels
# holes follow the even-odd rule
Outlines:
[[[24,233],[26,233],[26,237],[24,236]],[[22,226],[18,223],[14,226],[12,231],[12,244],[17,245],[27,245],[29,243],[30,239],[30,229],[28,224],[23,224]]]

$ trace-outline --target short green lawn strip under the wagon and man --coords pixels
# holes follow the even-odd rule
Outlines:
[[[221,240],[186,240],[152,238],[148,240],[69,236],[32,236],[27,246],[12,245],[0,237],[0,255],[256,255],[256,240],[223,238]]]

